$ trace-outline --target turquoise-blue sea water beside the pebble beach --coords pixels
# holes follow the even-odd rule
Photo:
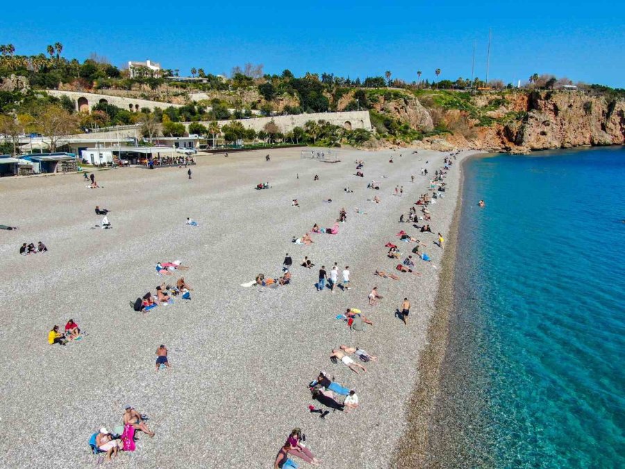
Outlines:
[[[624,468],[625,149],[474,159],[463,190],[447,465]]]

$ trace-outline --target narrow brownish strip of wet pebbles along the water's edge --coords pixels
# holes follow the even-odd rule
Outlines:
[[[406,431],[402,441],[410,445],[401,445],[394,452],[392,467],[415,468],[437,465],[437,456],[431,454],[431,431],[435,422],[435,408],[440,393],[442,365],[449,349],[450,316],[455,302],[454,283],[456,277],[456,257],[460,235],[460,217],[462,215],[462,192],[465,184],[465,164],[472,158],[487,157],[487,153],[472,154],[460,161],[458,196],[453,211],[445,249],[441,263],[438,290],[433,315],[426,331],[427,345],[419,356],[417,366],[418,381],[412,390],[406,411]]]

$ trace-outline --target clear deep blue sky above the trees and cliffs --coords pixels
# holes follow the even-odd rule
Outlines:
[[[63,55],[92,52],[114,65],[159,61],[189,74],[229,73],[234,65],[263,63],[265,72],[296,76],[332,72],[412,81],[485,76],[516,83],[533,73],[625,88],[625,2],[248,1],[61,3],[5,2],[0,44],[17,54],[45,52],[60,41]]]

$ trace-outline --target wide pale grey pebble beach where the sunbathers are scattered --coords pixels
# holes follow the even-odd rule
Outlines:
[[[419,233],[399,223],[399,215],[408,219],[410,206],[427,192],[426,178],[449,153],[340,149],[339,163],[322,163],[300,158],[300,151],[199,155],[192,179],[184,167],[97,171],[100,189],[85,188],[81,174],[0,181],[0,224],[19,227],[0,231],[1,467],[93,465],[91,434],[120,425],[125,404],[149,416],[156,436],[138,434],[135,452],[102,467],[271,468],[294,427],[306,434],[322,467],[412,466],[397,454],[414,431],[408,415],[420,358],[433,339],[428,329],[437,299],[451,295],[440,292],[439,280],[443,265],[453,268],[453,259],[443,261],[453,249],[434,242],[437,232],[453,242],[447,233],[461,161],[475,152],[453,161],[444,198],[428,207],[433,233]],[[364,178],[354,175],[356,160],[365,161]],[[372,180],[380,190],[366,188]],[[255,190],[267,181],[272,188]],[[403,186],[402,197],[395,186]],[[375,195],[380,204],[367,201]],[[97,205],[110,210],[113,229],[94,229],[101,220]],[[341,208],[347,222],[337,235],[312,233],[309,246],[291,242],[315,223],[331,227]],[[186,225],[187,217],[199,227]],[[426,263],[413,255],[420,277],[394,270],[415,245],[399,242],[402,229],[424,242],[432,258]],[[23,242],[40,240],[48,252],[18,254]],[[399,246],[399,261],[387,258],[387,242]],[[290,285],[242,286],[259,273],[279,277],[286,253],[293,259]],[[304,256],[314,268],[299,265]],[[190,270],[157,277],[157,262],[177,259]],[[318,292],[319,268],[329,272],[335,262],[339,272],[349,265],[351,289]],[[401,281],[376,277],[376,269]],[[190,302],[133,311],[129,302],[179,277],[194,289]],[[369,306],[374,286],[383,299]],[[412,304],[408,326],[394,314],[404,297]],[[346,308],[362,310],[373,325],[350,331],[336,319]],[[65,347],[49,345],[48,331],[54,324],[63,329],[69,318],[88,335]],[[172,369],[155,372],[160,344],[169,348]],[[364,363],[367,372],[359,375],[331,363],[331,350],[342,344],[363,348],[378,362]],[[310,413],[317,402],[307,385],[321,370],[356,390],[360,408],[326,419]]]

